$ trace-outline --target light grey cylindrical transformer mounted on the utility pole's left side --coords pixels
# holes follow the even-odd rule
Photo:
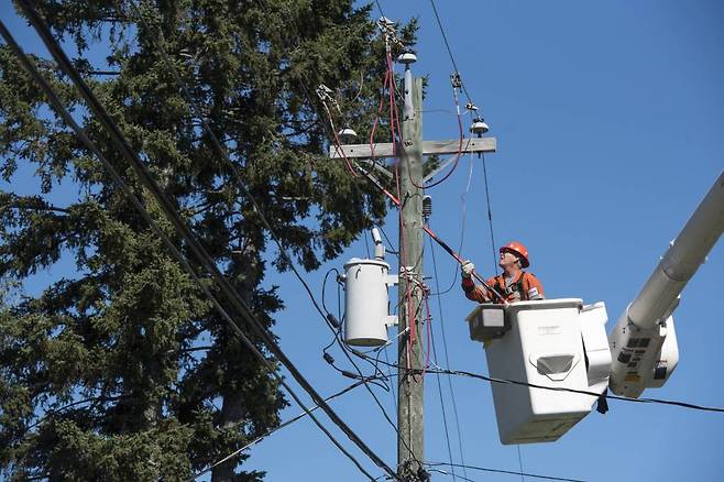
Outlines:
[[[344,264],[344,342],[379,347],[387,342],[387,272],[380,260],[352,258]]]

